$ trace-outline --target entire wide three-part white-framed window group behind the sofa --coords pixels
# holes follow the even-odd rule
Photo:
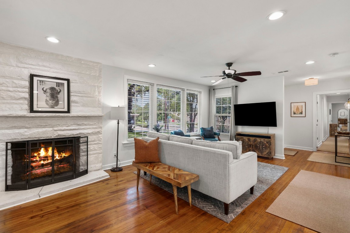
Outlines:
[[[156,124],[161,133],[199,132],[202,92],[127,79],[127,93],[127,141],[146,137]]]

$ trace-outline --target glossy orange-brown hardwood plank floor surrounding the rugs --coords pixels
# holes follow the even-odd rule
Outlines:
[[[293,149],[288,149],[293,150]],[[314,232],[265,212],[301,169],[350,178],[350,167],[307,161],[311,151],[299,151],[285,160],[258,161],[289,167],[271,187],[230,224],[140,179],[123,167],[110,178],[40,200],[0,211],[0,232]]]

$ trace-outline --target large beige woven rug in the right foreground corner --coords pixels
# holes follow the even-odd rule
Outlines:
[[[350,229],[350,179],[301,170],[266,210],[321,233]]]

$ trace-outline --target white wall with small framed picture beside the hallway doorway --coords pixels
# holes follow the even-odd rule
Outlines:
[[[344,89],[350,89],[350,78],[329,82],[318,80],[318,85],[314,86],[304,84],[285,86],[285,147],[312,151],[313,93],[331,90],[337,93],[337,90]],[[291,102],[306,102],[306,117],[290,117]]]

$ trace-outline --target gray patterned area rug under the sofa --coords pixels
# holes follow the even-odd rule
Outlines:
[[[202,194],[201,192],[198,192],[194,189],[191,190],[192,204],[204,210],[205,212],[208,212],[211,215],[225,221],[226,223],[230,223],[242,210],[245,209],[245,207],[257,199],[287,170],[287,167],[258,162],[258,182],[255,184],[254,194],[250,194],[250,190],[248,189],[235,201],[231,202],[229,207],[229,215],[224,214],[224,203],[222,201]],[[136,174],[136,172],[134,173]],[[140,176],[149,181],[149,174],[144,176],[144,173],[141,172]],[[172,184],[163,181],[155,176],[152,176],[152,183],[173,194]],[[177,196],[188,202],[187,187],[177,188]]]

